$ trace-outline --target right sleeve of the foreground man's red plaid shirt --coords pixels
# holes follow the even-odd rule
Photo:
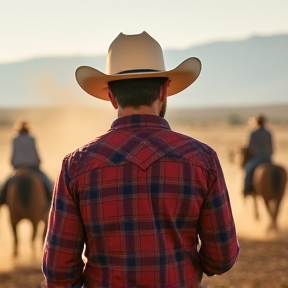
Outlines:
[[[223,274],[237,260],[239,244],[224,175],[215,152],[209,173],[208,195],[201,207],[199,257],[208,276]]]

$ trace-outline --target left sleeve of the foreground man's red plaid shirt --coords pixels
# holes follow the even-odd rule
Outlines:
[[[54,187],[43,252],[42,270],[48,288],[81,287],[83,282],[85,235],[70,182],[65,158]]]

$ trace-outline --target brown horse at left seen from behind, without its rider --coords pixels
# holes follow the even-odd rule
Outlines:
[[[20,169],[7,187],[6,204],[14,235],[14,256],[18,254],[17,224],[22,219],[32,223],[32,244],[40,221],[44,221],[43,241],[46,235],[49,203],[42,179],[36,172]]]

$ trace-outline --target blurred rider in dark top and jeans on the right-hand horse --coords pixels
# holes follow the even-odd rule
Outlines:
[[[247,149],[251,159],[245,164],[244,196],[252,194],[252,178],[255,168],[262,163],[270,163],[273,154],[271,132],[265,127],[266,118],[259,115],[253,121],[256,128],[250,133]]]

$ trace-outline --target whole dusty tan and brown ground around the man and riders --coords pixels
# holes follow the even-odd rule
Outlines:
[[[3,112],[1,112],[3,113]],[[3,116],[4,114],[2,114]],[[5,114],[6,115],[6,114]],[[95,136],[105,133],[115,117],[106,109],[21,110],[7,114],[7,121],[28,120],[37,139],[42,169],[51,179],[57,177],[63,157]],[[166,117],[169,120],[169,113]],[[2,118],[3,121],[3,118]],[[288,188],[279,214],[279,232],[268,233],[268,215],[259,199],[260,220],[253,216],[252,199],[241,195],[243,171],[231,163],[228,151],[247,140],[251,127],[225,123],[180,125],[170,122],[172,129],[188,134],[212,146],[221,161],[230,193],[241,251],[236,265],[221,276],[204,276],[205,288],[288,288]],[[288,171],[288,125],[268,125],[274,134],[275,162]],[[12,172],[9,165],[10,142],[14,135],[9,125],[0,126],[0,182]],[[237,160],[237,159],[236,159]],[[12,232],[6,207],[0,209],[0,288],[40,288],[43,276],[41,265],[41,230],[36,246],[29,242],[30,223],[23,220],[19,227],[20,251],[12,257]]]

